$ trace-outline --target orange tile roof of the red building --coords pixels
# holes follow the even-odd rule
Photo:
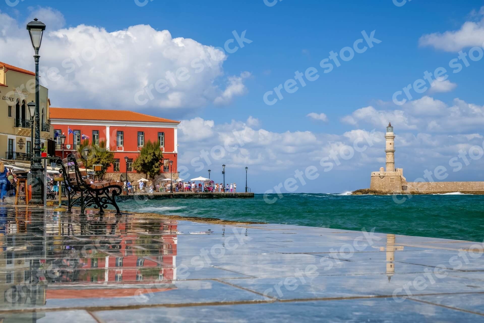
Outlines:
[[[131,122],[165,122],[180,123],[180,121],[153,117],[127,110],[80,109],[80,108],[49,108],[50,119],[96,120],[96,121],[131,121]]]

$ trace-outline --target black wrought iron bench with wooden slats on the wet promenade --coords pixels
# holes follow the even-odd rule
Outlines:
[[[86,177],[86,170],[80,170],[84,167],[84,162],[80,154],[68,154],[64,159],[58,159],[57,165],[61,166],[62,174],[64,176],[64,185],[66,187],[66,195],[68,200],[68,212],[71,212],[73,206],[78,205],[81,208],[81,215],[89,206],[94,206],[99,209],[99,213],[103,214],[104,209],[110,204],[114,206],[118,215],[121,214],[116,197],[121,195],[121,185],[119,182],[96,182],[90,184]],[[80,196],[75,198],[76,192]]]

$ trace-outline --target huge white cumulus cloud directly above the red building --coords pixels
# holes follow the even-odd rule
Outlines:
[[[112,32],[88,25],[64,27],[63,15],[50,8],[34,9],[28,20],[34,16],[47,25],[40,73],[53,106],[197,108],[215,101],[228,104],[246,92],[243,79],[250,74],[226,77],[227,55],[214,46],[173,38],[149,25]],[[25,22],[0,13],[0,34],[2,61],[31,70]]]

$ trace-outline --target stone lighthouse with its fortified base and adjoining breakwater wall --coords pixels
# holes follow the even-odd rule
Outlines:
[[[384,194],[484,194],[484,182],[407,182],[403,169],[395,168],[395,134],[388,124],[385,133],[386,169],[371,173],[370,191]]]

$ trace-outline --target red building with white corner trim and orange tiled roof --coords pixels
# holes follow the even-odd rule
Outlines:
[[[107,149],[114,152],[116,162],[107,173],[135,173],[133,161],[148,140],[160,141],[164,163],[162,173],[169,177],[169,160],[173,160],[172,173],[177,172],[177,126],[179,121],[158,118],[125,110],[101,110],[79,108],[50,108],[50,123],[58,134],[66,136],[64,156],[79,148],[84,140],[92,145],[106,141]],[[70,130],[69,130],[70,129]],[[61,139],[58,137],[56,154],[62,155]],[[128,163],[124,157],[128,157]],[[113,179],[119,179],[114,175]]]

